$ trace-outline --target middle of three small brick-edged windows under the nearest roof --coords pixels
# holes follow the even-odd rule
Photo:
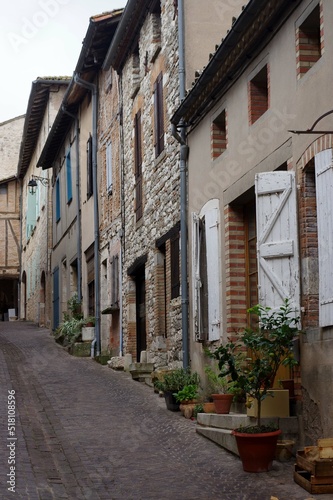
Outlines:
[[[267,64],[249,82],[249,120],[252,125],[269,108],[269,76]]]

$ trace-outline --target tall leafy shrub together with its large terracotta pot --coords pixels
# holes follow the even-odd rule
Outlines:
[[[247,472],[264,472],[271,468],[276,444],[281,431],[262,425],[261,403],[270,396],[277,370],[281,365],[297,364],[293,356],[294,340],[299,333],[299,317],[286,299],[278,310],[257,305],[249,309],[258,318],[258,327],[246,328],[239,336],[240,343],[230,342],[219,352],[213,353],[227,365],[235,386],[242,389],[257,403],[256,425],[234,429],[243,469]],[[235,352],[238,349],[238,366]],[[242,355],[239,349],[245,349]],[[240,358],[243,358],[239,363]]]

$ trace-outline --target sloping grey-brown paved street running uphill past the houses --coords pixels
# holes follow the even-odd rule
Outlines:
[[[237,457],[167,411],[151,388],[71,357],[31,323],[0,323],[0,387],[1,499],[311,497],[294,483],[292,462],[274,462],[269,473],[243,472]]]

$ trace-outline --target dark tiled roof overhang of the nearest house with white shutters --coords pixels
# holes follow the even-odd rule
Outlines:
[[[171,118],[195,127],[237,81],[302,0],[250,0]]]

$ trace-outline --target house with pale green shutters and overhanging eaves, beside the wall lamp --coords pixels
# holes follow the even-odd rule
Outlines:
[[[68,83],[62,77],[32,83],[17,167],[22,197],[20,318],[47,327],[52,311],[52,178],[37,168],[37,160]],[[31,189],[34,176],[36,186]]]

